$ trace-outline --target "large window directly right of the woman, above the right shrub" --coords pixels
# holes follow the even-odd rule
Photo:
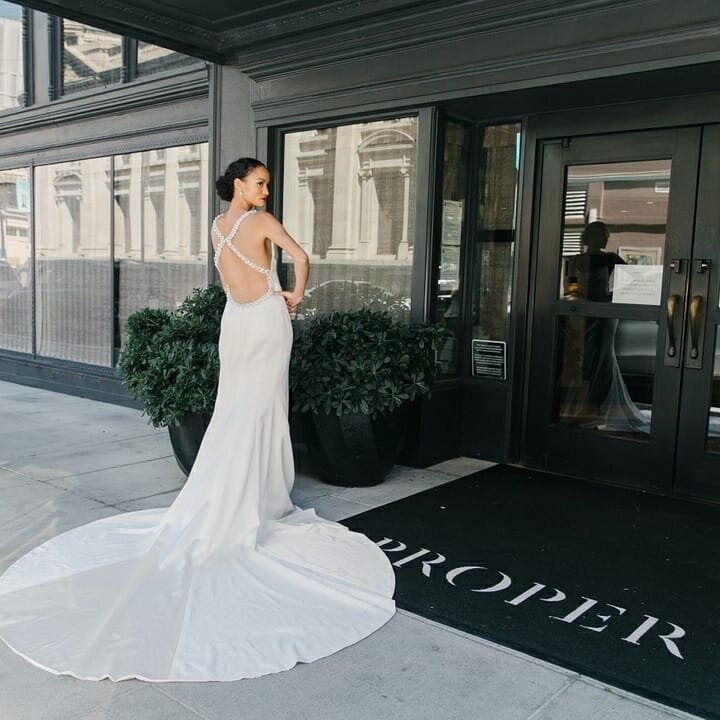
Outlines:
[[[283,223],[312,263],[300,318],[359,307],[408,315],[416,140],[415,117],[285,135]]]

